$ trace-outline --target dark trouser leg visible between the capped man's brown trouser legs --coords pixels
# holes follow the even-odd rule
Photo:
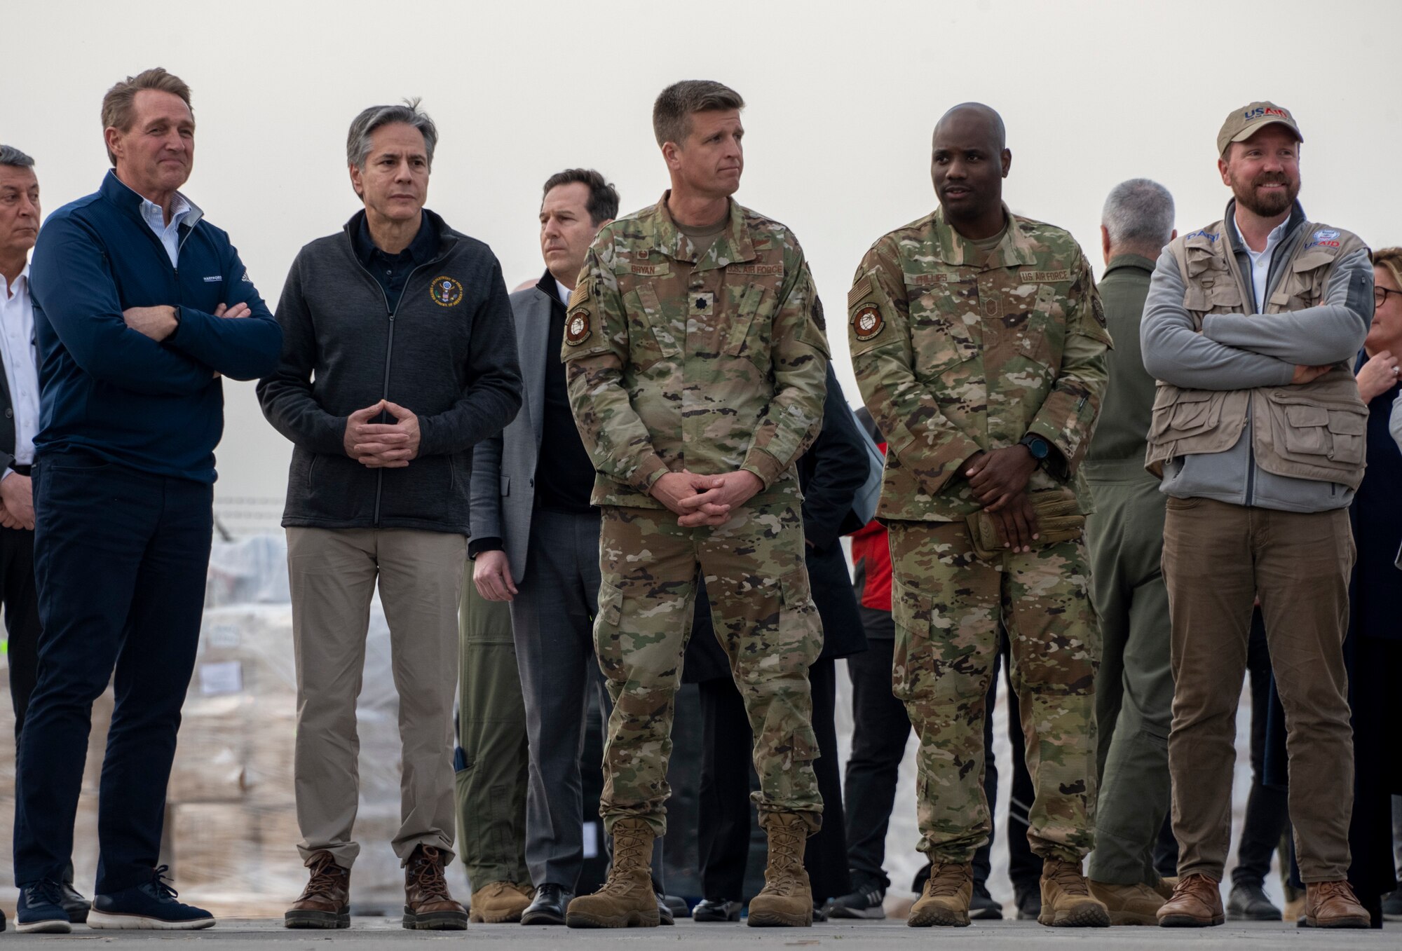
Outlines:
[[[1251,619],[1246,641],[1246,672],[1251,675],[1251,792],[1246,816],[1237,844],[1232,885],[1260,885],[1270,871],[1270,856],[1280,844],[1280,833],[1290,821],[1288,792],[1266,785],[1266,717],[1270,710],[1270,651],[1266,647],[1266,623],[1258,607]]]

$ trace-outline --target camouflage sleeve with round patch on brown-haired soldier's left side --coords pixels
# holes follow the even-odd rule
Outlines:
[[[652,484],[667,473],[667,464],[653,447],[652,435],[622,383],[628,314],[618,279],[600,261],[600,247],[611,241],[606,227],[585,257],[565,314],[561,360],[566,366],[569,408],[594,468],[651,494]]]

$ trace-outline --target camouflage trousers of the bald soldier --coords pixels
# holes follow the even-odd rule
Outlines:
[[[1035,790],[1028,842],[1080,861],[1095,842],[1095,670],[1101,630],[1081,540],[995,562],[963,522],[890,522],[892,689],[920,738],[916,847],[966,863],[988,840],[983,722],[1000,630]]]

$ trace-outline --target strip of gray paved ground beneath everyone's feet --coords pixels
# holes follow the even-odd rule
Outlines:
[[[760,930],[743,924],[695,924],[683,922],[673,929],[629,929],[624,931],[575,931],[571,929],[527,929],[519,924],[472,924],[461,931],[405,931],[398,919],[355,919],[346,931],[287,931],[280,922],[269,919],[231,919],[207,931],[93,931],[79,926],[69,936],[15,934],[6,931],[0,941],[10,944],[38,941],[100,941],[104,944],[135,945],[142,943],[209,944],[220,951],[244,948],[325,948],[341,944],[376,948],[395,944],[411,947],[415,941],[471,941],[477,947],[492,944],[520,951],[554,950],[564,945],[578,948],[739,948],[739,947],[813,947],[829,951],[858,951],[861,948],[924,948],[938,944],[945,948],[979,948],[1005,951],[1015,948],[1057,947],[1070,951],[1092,948],[1300,948],[1304,951],[1354,951],[1357,948],[1396,948],[1398,926],[1385,931],[1318,931],[1295,929],[1294,924],[1246,924],[1217,929],[1044,929],[1032,922],[990,922],[967,929],[908,929],[904,922],[862,922],[859,924],[817,924],[812,929]]]

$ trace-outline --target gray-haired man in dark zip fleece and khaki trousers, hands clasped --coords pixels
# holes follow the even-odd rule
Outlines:
[[[437,130],[372,107],[346,143],[365,210],[306,245],[278,304],[282,360],[258,384],[296,445],[287,569],[297,658],[299,849],[310,872],[287,927],[349,924],[359,800],[356,694],[376,581],[400,692],[404,927],[463,929],[453,857],[457,603],[472,446],[520,408],[512,309],[481,241],[423,209]]]

